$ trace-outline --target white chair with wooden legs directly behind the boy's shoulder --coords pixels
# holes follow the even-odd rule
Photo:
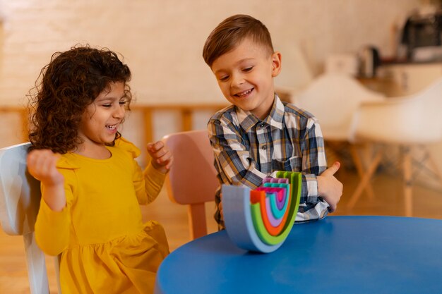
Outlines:
[[[384,95],[371,91],[360,82],[344,73],[325,73],[307,85],[306,89],[294,95],[294,105],[309,111],[318,118],[324,140],[328,145],[349,147],[352,161],[359,177],[364,176],[362,161],[356,145],[349,144],[352,136],[354,113],[359,105],[369,101],[383,101]],[[329,149],[330,150],[330,149]],[[373,198],[371,186],[366,186]]]

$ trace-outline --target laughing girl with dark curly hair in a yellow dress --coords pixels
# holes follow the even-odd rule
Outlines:
[[[157,197],[172,164],[162,142],[140,151],[118,128],[131,102],[128,66],[108,49],[56,53],[31,94],[28,170],[41,182],[37,244],[59,255],[66,293],[153,293],[169,253],[159,223],[142,223],[138,204]]]

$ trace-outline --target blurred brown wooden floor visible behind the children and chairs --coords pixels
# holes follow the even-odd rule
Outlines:
[[[348,209],[346,202],[354,191],[358,178],[354,171],[340,171],[338,178],[344,184],[344,193],[337,212],[332,215],[403,216],[404,205],[400,178],[378,173],[372,181],[376,199],[369,200],[366,195],[362,195],[353,209]],[[414,185],[413,195],[414,216],[442,219],[441,190],[431,190],[420,185]],[[212,218],[213,208],[213,203],[206,207],[210,232],[216,231],[215,222]],[[162,191],[160,197],[153,204],[142,209],[143,217],[146,220],[155,219],[165,226],[171,250],[175,250],[180,245],[189,242],[186,207],[170,202],[165,190]],[[48,260],[48,271],[51,293],[56,293],[52,258]],[[2,230],[0,230],[0,293],[30,293],[23,252],[23,239],[6,235]]]

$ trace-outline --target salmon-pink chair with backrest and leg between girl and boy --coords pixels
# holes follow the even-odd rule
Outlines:
[[[205,202],[215,200],[220,183],[213,166],[213,149],[207,130],[174,133],[162,138],[174,154],[166,188],[172,202],[189,205],[191,238],[207,234]]]

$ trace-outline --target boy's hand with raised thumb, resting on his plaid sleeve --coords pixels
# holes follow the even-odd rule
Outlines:
[[[316,177],[318,180],[318,195],[330,204],[330,212],[336,210],[342,196],[342,183],[334,176],[339,168],[340,163],[336,161],[333,166],[330,166],[320,176]]]

